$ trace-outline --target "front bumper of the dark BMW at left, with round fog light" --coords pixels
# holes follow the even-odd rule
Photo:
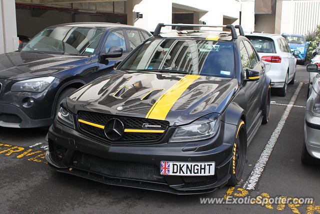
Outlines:
[[[0,127],[35,128],[53,122],[53,101],[59,79],[40,93],[11,91],[12,80],[0,79]]]

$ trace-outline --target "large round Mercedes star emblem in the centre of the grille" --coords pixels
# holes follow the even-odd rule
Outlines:
[[[124,133],[124,125],[121,120],[112,118],[104,126],[104,134],[109,140],[119,140]]]

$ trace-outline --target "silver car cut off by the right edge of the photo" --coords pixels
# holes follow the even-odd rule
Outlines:
[[[318,74],[319,67],[315,64],[306,66],[306,70]],[[320,159],[320,77],[313,78],[309,97],[305,106],[304,143],[302,147],[301,162],[312,164]]]

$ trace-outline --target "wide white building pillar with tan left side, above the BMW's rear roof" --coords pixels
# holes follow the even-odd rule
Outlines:
[[[142,14],[143,18],[137,19],[136,12]],[[172,0],[128,0],[126,2],[127,24],[154,31],[158,23],[172,23]],[[171,28],[163,28],[165,32]]]

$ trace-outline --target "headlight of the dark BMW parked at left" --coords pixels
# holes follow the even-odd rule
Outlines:
[[[42,92],[46,89],[55,77],[39,77],[16,82],[12,85],[11,91],[21,92]]]

